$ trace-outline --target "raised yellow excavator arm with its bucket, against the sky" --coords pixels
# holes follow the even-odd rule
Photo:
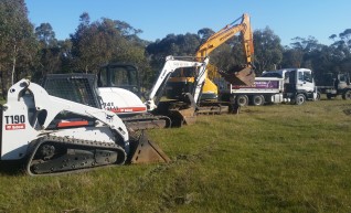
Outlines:
[[[241,23],[237,23],[240,20]],[[225,25],[219,32],[210,36],[208,41],[199,47],[196,57],[208,56],[212,51],[238,32],[242,35],[242,44],[246,64],[244,67],[237,67],[233,71],[219,73],[231,84],[252,85],[255,79],[255,73],[253,71],[254,43],[248,14],[244,13],[240,19]]]

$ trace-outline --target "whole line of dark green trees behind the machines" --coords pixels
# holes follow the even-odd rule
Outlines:
[[[119,20],[92,21],[84,12],[79,24],[66,40],[57,40],[50,23],[34,26],[28,19],[24,0],[0,1],[0,84],[2,96],[8,88],[30,77],[39,81],[50,73],[97,73],[111,62],[138,66],[141,85],[150,88],[167,55],[194,55],[196,49],[215,31],[203,28],[198,33],[168,34],[155,42],[140,39],[142,30]],[[306,67],[319,81],[325,73],[351,71],[351,29],[320,44],[313,36],[295,38],[290,45],[268,26],[254,31],[256,75],[284,67]],[[233,36],[210,55],[210,63],[221,70],[244,64],[240,35]]]

